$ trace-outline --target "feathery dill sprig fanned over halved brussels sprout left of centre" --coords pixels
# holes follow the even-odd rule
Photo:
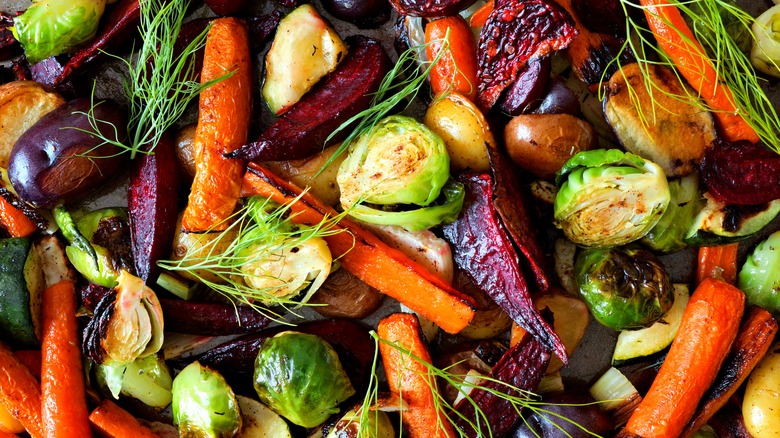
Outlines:
[[[283,315],[273,310],[272,306],[281,306],[285,311],[300,316],[294,309],[314,306],[315,304],[307,303],[313,290],[301,292],[305,296],[299,300],[294,299],[295,297],[279,296],[275,292],[287,287],[286,281],[271,274],[253,274],[244,268],[267,260],[283,263],[286,251],[289,252],[310,239],[343,231],[335,229],[335,226],[346,213],[334,217],[326,216],[313,226],[295,225],[292,219],[296,214],[291,213],[290,209],[302,196],[303,194],[281,206],[265,198],[251,197],[242,209],[218,224],[229,224],[223,231],[203,233],[187,248],[180,260],[161,260],[157,264],[169,271],[187,272],[232,302],[250,306],[277,322],[285,321],[282,319]],[[277,280],[278,284],[262,288],[252,287],[248,281],[252,277]],[[307,281],[306,288],[309,288],[311,283],[312,281]]]

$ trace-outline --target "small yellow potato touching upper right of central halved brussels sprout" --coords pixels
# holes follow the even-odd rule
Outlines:
[[[467,97],[450,92],[428,107],[423,123],[447,145],[453,170],[490,170],[485,143],[496,144],[482,111]]]

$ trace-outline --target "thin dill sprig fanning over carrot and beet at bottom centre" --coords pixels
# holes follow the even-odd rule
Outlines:
[[[493,437],[493,430],[491,425],[488,422],[488,417],[485,412],[480,409],[480,407],[477,405],[477,403],[474,401],[474,399],[471,398],[470,393],[472,390],[483,390],[487,391],[490,394],[508,401],[512,408],[518,413],[518,415],[521,415],[522,411],[526,411],[526,413],[535,413],[539,416],[546,417],[548,419],[558,419],[562,422],[569,423],[579,429],[581,429],[583,432],[587,433],[590,436],[593,437],[599,437],[600,436],[596,433],[593,433],[589,431],[587,428],[582,426],[581,424],[577,423],[575,420],[572,420],[570,418],[567,418],[559,413],[552,412],[550,410],[544,409],[544,405],[550,405],[549,403],[544,403],[541,401],[541,397],[532,391],[527,391],[521,388],[517,388],[513,385],[510,385],[506,382],[502,382],[500,380],[494,379],[489,376],[481,376],[480,381],[472,382],[466,379],[465,375],[462,374],[454,374],[451,371],[449,371],[452,367],[458,365],[458,363],[450,365],[446,368],[438,368],[434,366],[433,364],[429,363],[428,361],[418,357],[414,353],[412,353],[407,348],[403,347],[402,345],[399,345],[397,342],[390,342],[388,340],[382,339],[379,337],[379,335],[375,331],[371,331],[371,337],[374,338],[375,342],[375,352],[374,352],[374,362],[372,365],[372,371],[371,371],[371,377],[369,380],[368,390],[366,391],[366,395],[363,399],[363,406],[361,410],[361,417],[360,417],[360,424],[358,425],[358,438],[370,438],[372,436],[368,430],[364,430],[365,425],[370,424],[369,421],[366,421],[368,418],[367,415],[369,415],[369,412],[371,411],[370,407],[374,405],[378,400],[378,378],[376,376],[376,370],[378,365],[378,355],[379,355],[379,343],[383,343],[385,345],[389,345],[390,347],[396,349],[400,355],[400,360],[404,361],[399,368],[405,368],[407,367],[405,364],[409,363],[406,361],[416,361],[420,364],[422,364],[425,368],[426,372],[426,379],[424,379],[426,382],[429,383],[429,388],[431,390],[431,394],[433,395],[434,405],[437,409],[437,411],[440,413],[439,415],[439,421],[447,421],[452,426],[453,429],[456,431],[458,436],[460,437],[468,437],[472,436],[472,433],[469,432],[476,432],[477,436],[482,437]],[[445,383],[448,383],[455,387],[458,392],[461,394],[461,396],[466,400],[466,402],[470,403],[474,407],[474,411],[476,413],[476,420],[472,420],[470,418],[466,418],[463,414],[459,413],[457,410],[455,410],[454,406],[450,404],[447,400],[444,399],[441,392],[438,390],[436,386],[436,381],[442,381]],[[497,384],[500,389],[493,389],[485,386],[482,382],[491,382]],[[399,387],[400,384],[399,384]],[[512,395],[517,394],[517,395]],[[403,393],[401,393],[401,397],[403,398]],[[566,404],[566,406],[585,406],[588,404]],[[400,411],[401,414],[401,421],[403,421],[403,409]],[[365,416],[365,417],[364,417]],[[468,426],[471,428],[469,431],[463,431],[458,428],[456,424],[456,420],[461,419],[468,424]],[[523,418],[523,421],[525,419]],[[565,433],[568,436],[568,433],[560,426],[560,424],[550,421],[556,428],[561,430],[563,433]],[[401,430],[403,426],[399,425],[399,430]],[[439,427],[442,427],[442,424],[440,423]],[[400,436],[400,435],[399,435]]]

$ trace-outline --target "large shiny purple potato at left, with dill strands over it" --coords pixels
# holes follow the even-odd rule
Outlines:
[[[103,184],[127,161],[122,149],[89,134],[91,111],[101,135],[113,141],[127,136],[122,110],[111,101],[94,107],[76,99],[43,116],[17,140],[8,176],[22,200],[51,208],[77,201]]]

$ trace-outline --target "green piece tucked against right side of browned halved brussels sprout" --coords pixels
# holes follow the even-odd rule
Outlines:
[[[698,175],[669,181],[671,201],[657,224],[642,238],[655,251],[671,253],[685,249],[685,236],[696,214],[704,206]]]

